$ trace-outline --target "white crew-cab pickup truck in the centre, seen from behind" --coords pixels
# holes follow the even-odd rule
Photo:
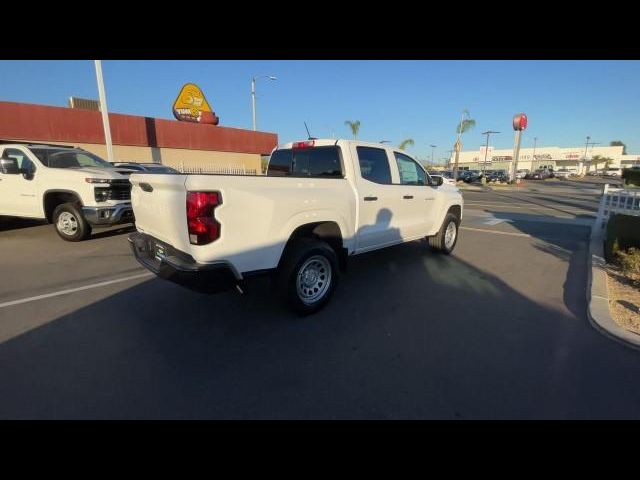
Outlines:
[[[326,304],[351,255],[427,237],[451,253],[463,201],[406,153],[351,140],[287,143],[267,174],[132,174],[138,261],[200,292],[271,273],[297,312]]]

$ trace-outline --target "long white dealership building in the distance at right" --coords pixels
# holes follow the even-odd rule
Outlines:
[[[605,168],[603,162],[596,165],[591,159],[599,155],[601,158],[610,158],[613,161],[610,167],[627,168],[640,165],[640,155],[623,155],[623,147],[589,146],[585,156],[585,146],[582,147],[537,147],[521,148],[518,158],[518,169],[536,170],[538,168],[551,167],[554,170],[560,168],[575,169],[577,173],[587,173]],[[485,161],[486,159],[486,161]],[[455,153],[449,159],[449,167],[453,168]],[[494,149],[485,146],[479,150],[460,152],[458,168],[463,170],[509,170],[513,162],[513,149]]]

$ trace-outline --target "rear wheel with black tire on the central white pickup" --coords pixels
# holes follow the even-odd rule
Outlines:
[[[311,264],[306,265],[308,261],[311,261]],[[301,283],[299,287],[298,276],[302,273],[303,267],[310,270],[310,282]],[[316,277],[314,272],[317,273]],[[339,276],[338,256],[326,242],[300,238],[289,244],[284,252],[276,274],[276,288],[280,298],[294,312],[309,315],[327,304],[338,284]],[[316,283],[313,281],[314,278]],[[319,292],[321,295],[318,298],[312,298]],[[308,298],[305,298],[305,293],[308,294]]]

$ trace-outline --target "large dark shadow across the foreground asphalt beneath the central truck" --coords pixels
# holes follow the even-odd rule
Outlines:
[[[547,308],[424,241],[354,257],[310,317],[267,279],[249,289],[153,279],[0,344],[0,418],[640,416],[637,352],[584,309]]]

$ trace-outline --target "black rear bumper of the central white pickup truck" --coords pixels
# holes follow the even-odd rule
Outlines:
[[[219,293],[237,288],[245,292],[244,282],[226,263],[197,263],[190,255],[176,250],[145,233],[129,235],[136,260],[158,277],[200,293]]]

